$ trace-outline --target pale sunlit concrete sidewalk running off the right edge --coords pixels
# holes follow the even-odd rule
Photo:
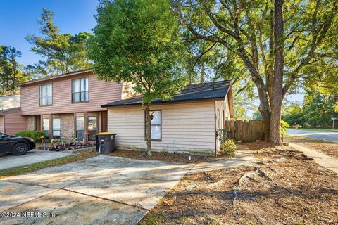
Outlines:
[[[295,143],[289,143],[289,146],[303,152],[308,157],[313,158],[313,160],[315,160],[315,162],[318,163],[320,166],[330,169],[338,174],[338,160],[336,158],[333,158],[324,153],[320,153],[319,151],[313,150],[311,148],[299,146]]]

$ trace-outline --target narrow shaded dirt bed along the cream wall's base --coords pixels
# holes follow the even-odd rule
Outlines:
[[[177,162],[177,163],[213,162],[213,161],[224,160],[225,158],[229,158],[227,155],[218,155],[218,157],[190,155],[191,160],[189,160],[189,155],[175,154],[175,153],[158,153],[158,152],[153,152],[153,155],[149,157],[146,155],[145,152],[137,151],[137,150],[115,150],[113,153],[106,154],[106,155],[132,158],[135,160],[159,160],[159,161],[172,162],[172,163],[173,162]]]

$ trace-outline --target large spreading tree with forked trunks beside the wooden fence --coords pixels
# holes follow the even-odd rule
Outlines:
[[[284,96],[307,79],[308,65],[330,53],[337,1],[175,1],[179,18],[196,39],[234,53],[256,85],[265,139],[281,145]]]

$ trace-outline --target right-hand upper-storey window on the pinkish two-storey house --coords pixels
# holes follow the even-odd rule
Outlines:
[[[72,101],[80,103],[89,101],[89,79],[73,79],[72,81]]]

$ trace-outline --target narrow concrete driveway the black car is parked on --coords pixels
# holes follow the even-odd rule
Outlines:
[[[30,150],[25,155],[0,154],[0,170],[30,165],[32,163],[43,162],[46,160],[55,160],[57,158],[63,158],[74,154],[75,153],[51,152],[48,150],[36,149]]]

